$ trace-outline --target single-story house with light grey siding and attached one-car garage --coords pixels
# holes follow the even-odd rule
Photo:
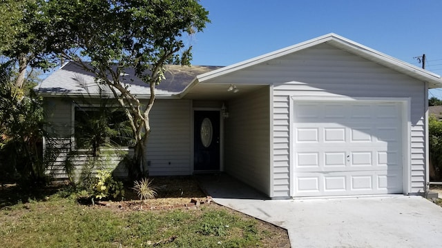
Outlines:
[[[151,176],[227,172],[270,198],[426,190],[427,92],[442,87],[437,74],[336,34],[168,73],[151,112]],[[68,64],[37,87],[69,141],[79,81],[93,78]],[[130,83],[148,97],[146,85]]]

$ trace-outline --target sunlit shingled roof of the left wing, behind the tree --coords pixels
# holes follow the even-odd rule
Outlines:
[[[198,74],[209,72],[220,68],[219,66],[192,65],[166,65],[165,79],[156,86],[157,96],[173,96],[182,92],[184,88],[195,79]],[[135,76],[133,69],[126,69],[121,76],[133,94],[139,97],[148,97],[150,90],[148,84]],[[111,95],[112,92],[107,85],[97,85],[92,72],[87,72],[73,62],[66,63],[59,70],[52,73],[41,84],[35,87],[38,94],[42,96],[99,96],[102,94]]]

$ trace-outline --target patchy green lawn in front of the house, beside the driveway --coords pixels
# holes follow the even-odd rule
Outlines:
[[[186,190],[180,190],[182,196]],[[215,203],[193,206],[182,204],[190,203],[191,197],[159,193],[144,207],[136,200],[84,205],[78,194],[64,187],[33,194],[2,187],[0,243],[2,247],[289,247],[284,229]]]

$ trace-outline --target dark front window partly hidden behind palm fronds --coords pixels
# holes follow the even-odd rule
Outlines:
[[[115,107],[75,107],[75,146],[77,149],[130,147],[132,130],[126,114]]]

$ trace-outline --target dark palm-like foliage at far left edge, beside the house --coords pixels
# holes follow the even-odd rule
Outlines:
[[[19,179],[45,178],[42,154],[44,110],[34,92],[27,94],[12,83],[11,68],[0,65],[0,157]]]

